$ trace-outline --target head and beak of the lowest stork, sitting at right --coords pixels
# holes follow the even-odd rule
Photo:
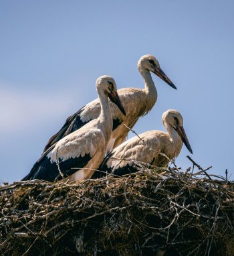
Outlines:
[[[193,153],[191,145],[189,144],[189,140],[183,128],[183,117],[182,115],[174,109],[168,109],[168,111],[162,114],[162,123],[166,129],[174,129],[179,136],[181,137],[183,143],[189,150],[189,152]]]

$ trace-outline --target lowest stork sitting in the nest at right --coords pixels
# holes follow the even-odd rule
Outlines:
[[[183,143],[191,153],[191,145],[183,128],[183,117],[174,110],[168,109],[162,115],[164,131],[146,131],[125,141],[106,155],[99,170],[92,178],[100,178],[107,173],[116,176],[134,173],[138,164],[149,164],[149,168],[167,167],[170,160],[177,157]]]

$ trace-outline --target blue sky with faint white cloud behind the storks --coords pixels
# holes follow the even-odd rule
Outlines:
[[[97,97],[98,76],[142,87],[136,64],[144,54],[178,90],[152,74],[158,101],[134,130],[164,130],[162,113],[177,109],[193,159],[234,179],[233,11],[232,0],[1,0],[0,182],[29,172],[66,117]],[[184,146],[184,170],[186,155]]]

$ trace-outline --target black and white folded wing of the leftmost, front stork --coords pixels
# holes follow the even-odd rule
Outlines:
[[[105,145],[105,139],[99,129],[75,131],[47,149],[23,180],[61,180],[86,167],[90,160],[97,161],[98,167],[102,157],[94,159],[94,155],[100,151],[104,157],[102,145]]]

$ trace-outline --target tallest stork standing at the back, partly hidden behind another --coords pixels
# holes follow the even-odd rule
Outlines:
[[[144,89],[122,88],[118,90],[120,101],[126,110],[126,116],[119,111],[116,105],[110,102],[110,109],[113,117],[113,131],[107,146],[108,153],[126,140],[129,130],[125,125],[130,128],[134,127],[138,119],[143,115],[146,115],[156,103],[157,91],[150,72],[153,72],[159,76],[172,88],[177,89],[177,87],[174,86],[168,76],[166,76],[166,74],[160,68],[158,60],[156,60],[156,58],[150,54],[144,55],[140,58],[138,61],[138,70],[144,80]],[[68,117],[66,123],[60,129],[60,131],[55,133],[55,135],[49,139],[45,145],[44,151],[66,135],[76,131],[76,129],[80,129],[80,127],[91,120],[96,119],[98,115],[100,115],[100,101],[99,99],[96,99],[82,107],[82,109],[80,109],[74,115]]]

